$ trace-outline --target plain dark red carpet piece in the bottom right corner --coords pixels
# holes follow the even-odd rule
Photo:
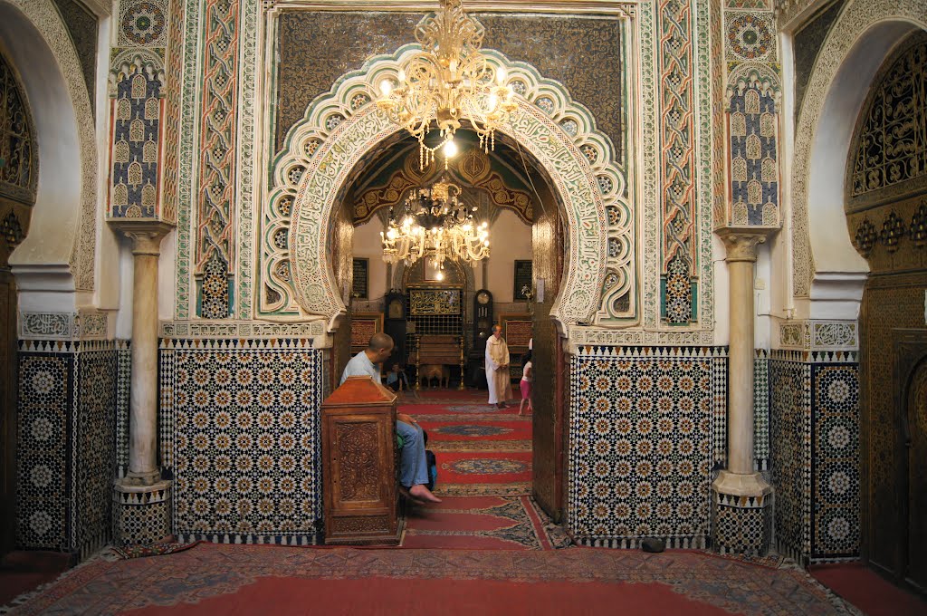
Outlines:
[[[862,563],[813,565],[808,572],[869,616],[927,614],[927,601],[888,582]]]

